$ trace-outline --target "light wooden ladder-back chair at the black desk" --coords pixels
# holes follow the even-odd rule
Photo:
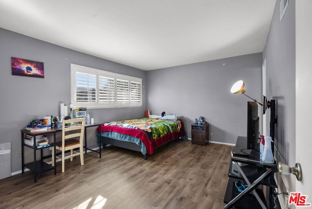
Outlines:
[[[70,125],[73,124],[73,125]],[[56,142],[56,149],[62,152],[62,172],[65,171],[65,151],[70,150],[70,161],[73,161],[73,156],[80,155],[80,164],[84,165],[83,161],[83,138],[84,138],[85,118],[76,118],[63,120],[62,122],[62,141]],[[68,133],[69,132],[69,133]],[[79,148],[79,151],[73,150]],[[52,166],[54,166],[54,149],[52,149]]]

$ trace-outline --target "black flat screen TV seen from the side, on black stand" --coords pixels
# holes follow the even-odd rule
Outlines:
[[[256,102],[248,102],[246,149],[255,149],[259,151],[258,138],[259,138],[258,104]]]

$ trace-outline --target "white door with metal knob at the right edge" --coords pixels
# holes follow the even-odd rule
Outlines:
[[[312,0],[295,1],[296,30],[296,162],[302,167],[302,181],[296,192],[308,195],[312,204]],[[294,165],[289,165],[294,166]]]

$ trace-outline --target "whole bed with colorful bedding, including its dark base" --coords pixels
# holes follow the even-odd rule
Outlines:
[[[140,118],[103,123],[98,129],[100,142],[140,151],[147,160],[154,149],[185,136],[181,120]]]

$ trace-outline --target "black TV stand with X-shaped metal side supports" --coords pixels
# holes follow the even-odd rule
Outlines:
[[[238,137],[234,150],[244,150],[247,137]],[[270,208],[269,201],[266,201],[259,185],[266,185],[270,188],[276,188],[273,179],[273,173],[277,171],[276,163],[262,163],[260,161],[259,152],[252,149],[249,156],[233,154],[229,167],[229,182],[224,196],[225,209],[232,208]],[[234,172],[235,167],[236,172]],[[242,192],[238,192],[234,186],[234,182],[243,180],[248,188]],[[245,184],[245,183],[244,183]],[[271,190],[271,189],[270,189]]]

